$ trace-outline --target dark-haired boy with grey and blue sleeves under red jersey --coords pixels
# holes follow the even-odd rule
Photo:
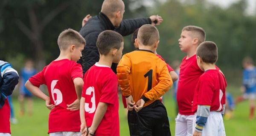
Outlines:
[[[222,116],[227,82],[215,66],[218,59],[217,45],[210,41],[202,42],[196,55],[198,66],[204,74],[198,80],[192,105],[192,111],[197,115],[193,136],[225,136]]]

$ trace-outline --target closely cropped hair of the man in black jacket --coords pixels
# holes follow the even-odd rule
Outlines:
[[[122,0],[104,0],[101,12],[109,17],[113,17],[117,11],[125,10]]]

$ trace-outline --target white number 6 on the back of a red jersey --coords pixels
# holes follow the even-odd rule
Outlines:
[[[52,83],[51,83],[51,93],[52,93],[52,99],[54,101],[54,105],[59,105],[62,102],[61,91],[58,89],[54,89],[57,82],[58,80],[52,80]],[[54,99],[54,94],[56,94],[56,100]]]

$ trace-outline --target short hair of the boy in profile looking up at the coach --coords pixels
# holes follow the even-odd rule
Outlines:
[[[191,31],[193,38],[198,38],[198,45],[205,41],[205,31],[203,28],[198,26],[185,26],[182,31]]]

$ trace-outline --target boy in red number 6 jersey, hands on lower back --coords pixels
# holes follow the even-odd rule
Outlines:
[[[82,56],[84,38],[73,29],[67,29],[58,37],[60,55],[45,66],[43,71],[29,78],[26,88],[43,99],[50,111],[50,136],[81,136],[79,104],[84,84],[82,67],[76,63]],[[49,97],[39,86],[47,85]]]

